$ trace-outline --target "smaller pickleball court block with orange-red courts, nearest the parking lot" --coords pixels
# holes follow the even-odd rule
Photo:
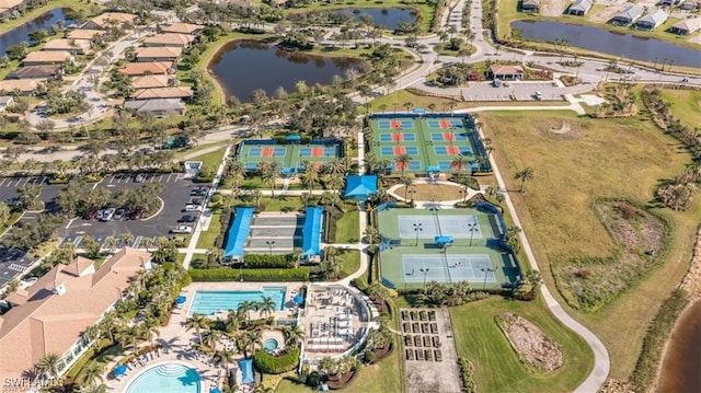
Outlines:
[[[283,173],[303,172],[303,163],[327,164],[342,157],[341,142],[310,145],[275,145],[271,140],[246,140],[239,147],[237,160],[243,163],[246,171],[255,171],[261,162],[275,161],[283,167]]]

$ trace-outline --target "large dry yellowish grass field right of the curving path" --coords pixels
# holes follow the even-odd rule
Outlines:
[[[674,177],[690,162],[645,111],[624,119],[578,118],[566,112],[482,113],[480,120],[493,140],[508,189],[518,188],[513,180],[518,169],[533,169],[526,193],[510,195],[550,288],[554,288],[551,264],[567,263],[572,255],[607,256],[616,248],[591,208],[597,199],[630,198],[648,205],[658,181]],[[551,132],[563,122],[571,125],[570,132]],[[652,209],[670,221],[670,253],[605,309],[583,314],[563,302],[604,340],[611,356],[611,378],[630,375],[647,324],[686,271],[701,218],[699,205],[686,212]]]

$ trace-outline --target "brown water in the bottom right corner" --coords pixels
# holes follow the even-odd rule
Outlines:
[[[657,392],[700,392],[701,301],[697,301],[675,324],[662,362]]]

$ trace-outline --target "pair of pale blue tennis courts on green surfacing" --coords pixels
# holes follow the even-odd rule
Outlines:
[[[422,288],[425,282],[467,281],[473,288],[498,288],[518,280],[513,256],[498,248],[497,217],[478,209],[388,209],[377,213],[382,238],[380,274],[384,285]],[[436,236],[450,236],[448,247]]]

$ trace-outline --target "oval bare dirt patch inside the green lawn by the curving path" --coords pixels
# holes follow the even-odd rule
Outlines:
[[[560,345],[545,336],[536,325],[512,313],[499,315],[498,324],[521,361],[543,372],[562,367]]]

